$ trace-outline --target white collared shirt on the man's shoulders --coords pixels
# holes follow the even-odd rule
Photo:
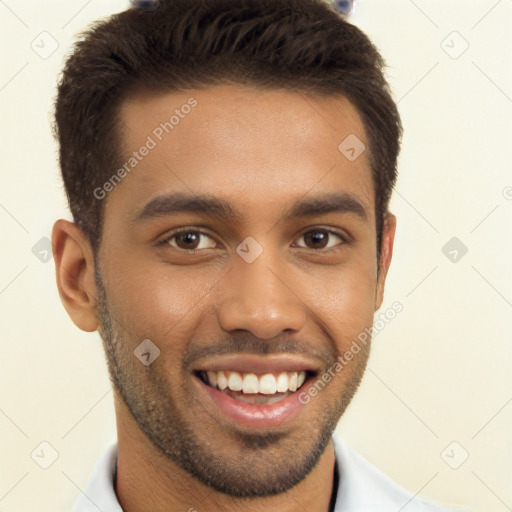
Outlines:
[[[453,512],[402,489],[342,439],[333,436],[340,484],[335,512]],[[117,443],[99,459],[71,512],[123,512],[114,490]]]

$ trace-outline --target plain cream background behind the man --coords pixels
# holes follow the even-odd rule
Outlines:
[[[99,337],[74,327],[32,248],[44,256],[69,218],[49,128],[63,58],[127,4],[0,1],[2,512],[69,510],[115,440]],[[512,2],[362,0],[352,20],[385,56],[405,126],[382,311],[404,309],[337,434],[413,493],[512,510]],[[457,262],[452,237],[468,248]],[[31,458],[44,441],[59,454],[46,470]]]

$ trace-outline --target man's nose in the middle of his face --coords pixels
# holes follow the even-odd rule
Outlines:
[[[306,305],[300,298],[299,276],[264,251],[247,263],[238,255],[223,278],[218,320],[225,331],[247,330],[260,339],[283,331],[300,331]]]

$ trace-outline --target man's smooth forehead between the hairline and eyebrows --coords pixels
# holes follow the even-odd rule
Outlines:
[[[139,91],[119,119],[128,172],[108,209],[133,216],[152,198],[181,191],[271,216],[305,195],[342,192],[374,214],[364,125],[342,96],[237,85]]]

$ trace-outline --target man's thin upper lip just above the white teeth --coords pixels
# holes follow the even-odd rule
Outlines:
[[[318,373],[320,366],[318,363],[291,354],[268,356],[230,354],[208,358],[204,362],[198,363],[194,370],[212,372],[231,370],[239,373],[278,373],[295,371]]]

